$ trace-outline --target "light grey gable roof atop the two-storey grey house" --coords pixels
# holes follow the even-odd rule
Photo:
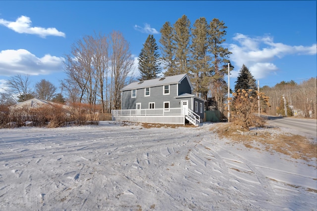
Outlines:
[[[166,76],[158,79],[150,79],[145,81],[133,82],[124,86],[121,91],[137,89],[137,88],[145,88],[145,87],[153,87],[153,86],[160,86],[160,85],[168,85],[168,84],[179,84],[184,78],[188,79],[189,84],[192,84],[187,76],[187,74],[175,75],[175,76]]]

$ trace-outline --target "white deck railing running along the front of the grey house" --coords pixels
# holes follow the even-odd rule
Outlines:
[[[112,116],[170,116],[185,115],[184,108],[126,109],[112,110]]]

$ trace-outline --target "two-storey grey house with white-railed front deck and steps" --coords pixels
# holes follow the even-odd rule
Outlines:
[[[204,119],[205,102],[193,94],[187,74],[134,82],[121,89],[121,110],[112,119],[140,123],[197,126]]]

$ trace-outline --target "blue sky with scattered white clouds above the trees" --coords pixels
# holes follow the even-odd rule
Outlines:
[[[71,44],[94,31],[120,31],[135,61],[143,43],[169,21],[186,15],[217,18],[227,26],[224,45],[232,52],[234,86],[245,64],[260,86],[317,76],[317,1],[1,1],[0,91],[17,74],[33,84],[45,79],[59,87],[63,57]],[[137,63],[135,72],[138,73]]]

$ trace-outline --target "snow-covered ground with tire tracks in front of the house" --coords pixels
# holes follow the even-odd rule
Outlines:
[[[316,161],[246,148],[215,125],[0,129],[0,210],[317,209]]]

